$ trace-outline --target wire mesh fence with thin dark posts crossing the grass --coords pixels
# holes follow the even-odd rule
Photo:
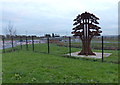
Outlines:
[[[118,56],[117,50],[119,50],[117,37],[93,37],[91,48],[93,52],[112,53],[114,57],[108,60],[118,62],[118,57],[116,57]],[[82,50],[82,41],[79,37],[2,37],[2,49],[3,53],[26,50],[37,53],[71,56],[71,53]]]

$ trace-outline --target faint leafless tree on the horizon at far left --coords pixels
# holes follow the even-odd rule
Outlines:
[[[6,35],[15,36],[17,31],[14,25],[9,21],[8,25],[5,27]]]

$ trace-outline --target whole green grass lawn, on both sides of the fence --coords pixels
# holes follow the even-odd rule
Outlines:
[[[35,52],[17,50],[3,53],[3,83],[118,83],[118,53],[106,50],[112,55],[107,62],[94,59],[73,59],[63,57],[67,47],[50,45],[47,54],[46,44],[36,44]],[[18,46],[19,47],[19,46]],[[17,48],[18,48],[17,47]],[[79,51],[72,48],[72,52]],[[94,50],[100,52],[100,50]],[[111,62],[112,61],[112,62]]]

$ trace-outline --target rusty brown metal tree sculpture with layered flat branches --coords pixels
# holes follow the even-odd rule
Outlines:
[[[88,12],[82,13],[81,15],[78,15],[73,25],[76,25],[76,27],[73,28],[72,34],[73,36],[80,36],[82,40],[82,50],[78,55],[95,55],[95,53],[92,52],[90,43],[94,36],[100,36],[100,27],[98,27],[95,24],[99,24],[97,22],[99,20],[98,17],[96,17],[93,14],[90,14]]]

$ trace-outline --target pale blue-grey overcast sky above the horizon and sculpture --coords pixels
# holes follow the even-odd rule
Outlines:
[[[100,18],[103,35],[118,33],[119,0],[2,0],[0,34],[9,21],[17,34],[72,35],[73,19],[85,11]]]

